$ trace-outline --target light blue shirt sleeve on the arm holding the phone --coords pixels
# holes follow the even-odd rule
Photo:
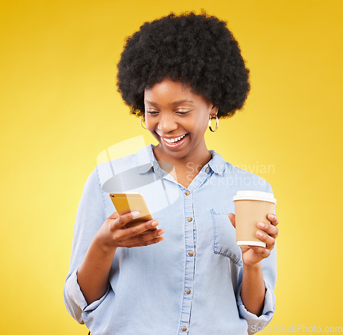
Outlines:
[[[78,266],[80,266],[95,233],[106,220],[103,197],[97,168],[95,168],[84,184],[76,213],[69,273],[64,284],[64,303],[69,314],[79,323],[84,323],[82,312],[95,310],[104,301],[109,290],[108,286],[103,297],[87,306],[77,278]]]

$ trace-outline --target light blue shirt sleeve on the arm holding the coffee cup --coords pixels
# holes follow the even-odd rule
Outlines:
[[[267,186],[265,192],[273,193],[270,184],[268,182],[266,183]],[[259,317],[246,310],[243,301],[241,300],[241,284],[237,291],[237,306],[239,315],[248,322],[248,334],[261,332],[261,330],[263,330],[263,328],[270,323],[272,317],[274,316],[276,307],[276,299],[274,295],[274,289],[276,287],[276,244],[272,249],[270,256],[264,260],[261,260],[261,268],[265,284],[265,297],[263,311]]]

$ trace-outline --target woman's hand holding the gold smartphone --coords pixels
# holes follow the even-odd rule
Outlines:
[[[139,216],[140,212],[129,212],[119,215],[114,212],[110,215],[102,227],[95,235],[96,240],[103,249],[117,249],[117,247],[142,247],[161,242],[165,231],[163,229],[155,229],[146,232],[158,225],[158,221],[150,220],[144,223],[139,223],[133,227],[126,227],[133,219]],[[145,232],[145,234],[142,234]]]

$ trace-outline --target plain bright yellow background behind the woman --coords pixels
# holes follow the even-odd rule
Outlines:
[[[84,182],[106,147],[152,141],[115,89],[123,39],[201,8],[228,21],[251,70],[244,110],[206,139],[278,200],[271,325],[343,326],[342,3],[1,1],[1,333],[87,334],[62,298]]]

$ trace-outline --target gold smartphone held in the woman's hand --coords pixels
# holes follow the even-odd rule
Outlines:
[[[139,210],[141,215],[137,219],[126,223],[125,227],[132,227],[139,225],[139,223],[152,220],[152,214],[150,213],[144,197],[141,193],[110,193],[110,199],[115,206],[119,215]],[[151,227],[148,230],[155,230],[156,227]]]

